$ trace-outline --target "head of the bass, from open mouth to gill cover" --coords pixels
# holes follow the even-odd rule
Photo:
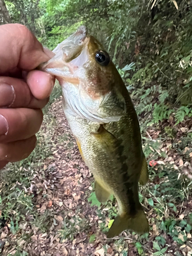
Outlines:
[[[96,38],[89,35],[87,28],[79,27],[53,53],[54,57],[42,66],[42,70],[56,76],[71,109],[83,118],[99,122],[109,122],[106,116],[109,109],[113,109],[110,120],[119,120],[116,113],[119,109],[114,112],[112,106],[106,109],[104,104],[110,98],[114,101],[114,85],[122,82],[121,77],[109,54]],[[123,97],[120,98],[123,101]],[[118,108],[125,110],[124,101]]]

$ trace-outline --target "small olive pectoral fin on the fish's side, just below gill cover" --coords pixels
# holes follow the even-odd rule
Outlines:
[[[91,135],[99,142],[99,144],[105,150],[107,150],[108,152],[114,152],[114,147],[117,146],[118,140],[112,133],[106,131],[102,124],[99,126],[97,132],[91,133]]]

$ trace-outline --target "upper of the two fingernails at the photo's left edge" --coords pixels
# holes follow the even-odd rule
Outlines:
[[[0,107],[10,106],[15,100],[15,91],[8,83],[0,83]]]

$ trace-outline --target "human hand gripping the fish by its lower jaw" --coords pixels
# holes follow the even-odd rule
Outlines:
[[[50,59],[36,37],[23,25],[0,26],[0,169],[27,158],[55,79],[34,70]]]

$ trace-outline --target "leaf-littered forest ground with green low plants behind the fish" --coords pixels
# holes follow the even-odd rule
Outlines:
[[[96,200],[58,97],[45,110],[33,154],[1,172],[1,255],[192,255],[191,127],[192,119],[179,124],[174,139],[161,135],[162,127],[147,128],[150,181],[140,187],[140,201],[150,233],[106,239],[116,201]]]

